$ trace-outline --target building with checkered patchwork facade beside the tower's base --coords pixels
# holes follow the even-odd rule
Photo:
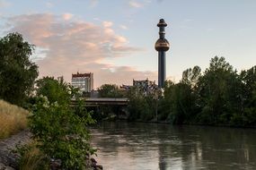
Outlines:
[[[155,81],[148,81],[148,79],[143,81],[133,80],[133,87],[142,91],[145,96],[149,94],[154,95],[155,90],[158,89],[158,86],[155,84]]]

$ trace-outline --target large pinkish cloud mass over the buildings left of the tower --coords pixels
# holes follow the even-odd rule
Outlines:
[[[143,50],[130,46],[127,38],[119,36],[110,27],[66,20],[63,15],[49,13],[17,15],[7,22],[12,26],[8,32],[22,33],[39,49],[34,61],[40,66],[40,77],[63,75],[70,81],[71,74],[77,71],[93,72],[94,87],[103,83],[131,84],[132,79],[156,78],[156,72],[138,72],[129,66],[101,63],[105,58],[128,56]]]

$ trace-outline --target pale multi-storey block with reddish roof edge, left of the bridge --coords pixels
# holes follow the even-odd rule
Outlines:
[[[71,84],[83,94],[90,93],[93,90],[93,72],[72,74]]]

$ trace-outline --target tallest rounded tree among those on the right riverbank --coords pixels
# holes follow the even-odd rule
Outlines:
[[[224,57],[211,59],[209,68],[199,78],[199,114],[201,123],[229,123],[238,112],[238,74]]]

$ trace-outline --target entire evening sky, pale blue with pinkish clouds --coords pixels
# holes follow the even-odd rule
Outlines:
[[[102,84],[157,82],[156,24],[164,19],[167,80],[212,57],[238,71],[256,64],[255,0],[0,0],[0,37],[19,32],[36,46],[42,76],[93,72]]]

